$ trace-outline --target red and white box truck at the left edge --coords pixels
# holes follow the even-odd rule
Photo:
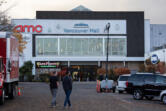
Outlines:
[[[11,92],[19,81],[19,43],[10,33],[0,32],[0,98],[2,88]],[[9,88],[10,87],[10,88]],[[5,94],[6,96],[10,96]]]

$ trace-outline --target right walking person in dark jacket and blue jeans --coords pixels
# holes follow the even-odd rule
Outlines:
[[[66,74],[66,76],[63,78],[63,89],[64,89],[65,94],[66,94],[64,107],[66,107],[67,103],[68,103],[68,106],[71,107],[70,94],[72,92],[72,78],[70,76],[70,72],[68,72]]]

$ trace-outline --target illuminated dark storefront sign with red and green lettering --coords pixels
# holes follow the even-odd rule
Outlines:
[[[56,61],[36,61],[36,68],[59,68],[60,63]]]

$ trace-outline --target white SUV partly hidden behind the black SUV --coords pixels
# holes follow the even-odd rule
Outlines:
[[[119,93],[123,93],[124,91],[126,91],[126,81],[128,80],[129,76],[130,74],[124,74],[119,76],[116,86],[116,89]]]

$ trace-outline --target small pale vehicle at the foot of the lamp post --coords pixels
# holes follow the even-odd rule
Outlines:
[[[104,92],[106,90],[111,90],[113,93],[115,93],[116,85],[113,80],[102,80],[100,82],[100,92]]]

